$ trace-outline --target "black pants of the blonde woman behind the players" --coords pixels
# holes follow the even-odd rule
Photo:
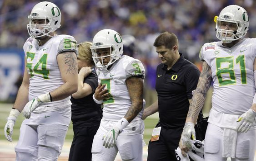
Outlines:
[[[74,137],[70,147],[69,161],[91,161],[93,137],[99,127],[100,122],[73,126]]]

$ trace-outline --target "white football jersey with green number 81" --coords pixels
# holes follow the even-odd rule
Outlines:
[[[256,39],[245,38],[231,48],[222,42],[206,43],[200,58],[211,67],[212,109],[225,114],[243,114],[255,95],[254,59]]]

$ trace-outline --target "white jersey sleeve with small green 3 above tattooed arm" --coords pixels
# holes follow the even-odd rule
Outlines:
[[[138,59],[133,59],[130,63],[128,63],[125,68],[125,75],[127,78],[131,76],[142,76],[144,79],[145,69],[141,61]]]

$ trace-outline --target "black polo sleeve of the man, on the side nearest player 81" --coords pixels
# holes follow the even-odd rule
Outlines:
[[[192,91],[196,90],[197,82],[200,76],[200,71],[198,69],[191,69],[188,71],[185,83],[186,83],[186,95],[188,99],[192,99]]]

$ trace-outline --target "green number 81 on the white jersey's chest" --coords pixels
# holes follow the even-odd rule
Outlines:
[[[227,67],[221,67],[221,63],[227,63]],[[245,56],[240,55],[236,58],[236,64],[240,65],[241,71],[241,83],[246,84],[246,65],[245,65]],[[236,84],[236,76],[234,71],[234,57],[218,57],[216,58],[216,69],[217,77],[219,80],[220,86],[223,85],[233,85]],[[230,79],[223,80],[221,74],[229,74]]]

